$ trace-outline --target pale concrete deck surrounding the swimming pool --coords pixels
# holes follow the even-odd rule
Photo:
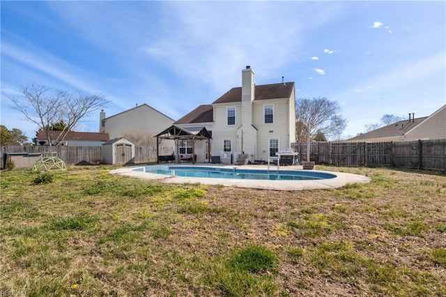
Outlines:
[[[151,165],[147,165],[151,166]],[[155,165],[153,165],[155,166]],[[169,166],[169,165],[167,165]],[[233,169],[267,169],[267,165],[220,165],[209,163],[188,164],[171,164],[171,166],[209,166],[209,167],[223,167]],[[226,187],[238,188],[255,188],[265,190],[305,190],[305,189],[334,189],[341,188],[347,183],[369,183],[371,179],[367,176],[359,174],[348,174],[344,172],[327,172],[335,174],[337,177],[329,179],[319,179],[314,181],[268,181],[255,179],[231,179],[231,178],[197,178],[197,177],[183,177],[183,176],[166,176],[162,174],[151,174],[147,172],[137,172],[134,169],[145,167],[144,165],[123,167],[114,169],[111,174],[119,174],[125,176],[132,176],[136,178],[143,178],[151,181],[160,181],[162,183],[201,183],[203,185],[224,185]],[[286,170],[303,170],[300,165],[283,166],[280,169]],[[277,166],[270,166],[270,171],[276,171]],[[305,172],[312,170],[305,170]],[[324,172],[324,171],[317,171]]]

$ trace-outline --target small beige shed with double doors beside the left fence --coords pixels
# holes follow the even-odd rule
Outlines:
[[[104,164],[134,163],[134,144],[124,137],[118,137],[102,144]]]

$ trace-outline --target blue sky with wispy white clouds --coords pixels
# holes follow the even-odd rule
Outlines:
[[[256,84],[339,102],[344,136],[383,114],[446,104],[445,1],[1,1],[1,124],[36,125],[5,94],[43,84],[146,103],[173,119],[210,104],[249,65]],[[96,132],[99,111],[78,130]]]

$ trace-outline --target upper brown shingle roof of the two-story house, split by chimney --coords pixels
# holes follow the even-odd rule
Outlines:
[[[293,92],[294,82],[286,82],[279,84],[262,84],[254,87],[254,100],[266,100],[275,98],[289,98]],[[223,96],[213,102],[229,103],[242,102],[242,87],[232,88]]]

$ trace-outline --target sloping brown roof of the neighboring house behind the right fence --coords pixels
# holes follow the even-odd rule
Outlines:
[[[381,138],[387,138],[387,137],[403,137],[407,132],[415,128],[417,125],[422,123],[427,119],[427,116],[424,116],[423,118],[417,118],[412,120],[404,120],[404,121],[398,121],[397,123],[392,123],[390,125],[386,125],[384,127],[378,128],[376,130],[372,130],[367,133],[363,133],[361,135],[357,135],[355,137],[352,137],[348,139],[348,141],[363,141],[363,140],[369,140],[369,139],[381,139]]]

